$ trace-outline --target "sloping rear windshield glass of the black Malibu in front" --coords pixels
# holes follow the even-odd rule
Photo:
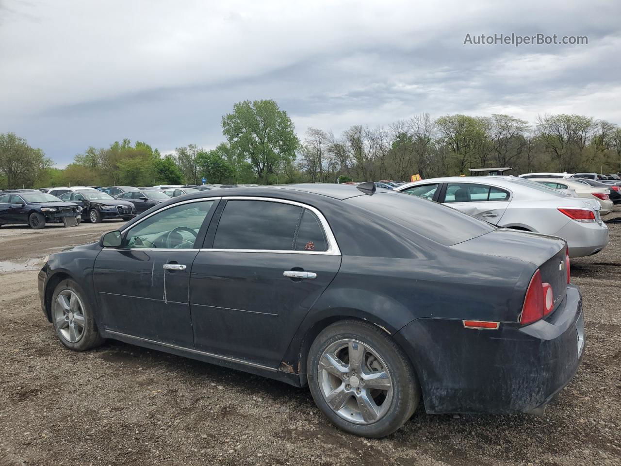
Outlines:
[[[402,193],[356,196],[351,203],[430,240],[450,246],[494,231],[496,227],[456,209]]]

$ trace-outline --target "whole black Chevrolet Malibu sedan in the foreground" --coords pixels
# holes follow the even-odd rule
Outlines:
[[[563,240],[372,183],[173,198],[50,255],[39,293],[70,349],[111,338],[308,384],[368,437],[421,397],[427,413],[542,413],[584,347]]]

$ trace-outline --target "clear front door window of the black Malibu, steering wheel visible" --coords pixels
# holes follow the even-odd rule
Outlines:
[[[129,249],[193,249],[213,200],[179,204],[157,212],[125,235]]]

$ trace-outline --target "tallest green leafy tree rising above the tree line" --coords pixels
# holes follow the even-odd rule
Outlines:
[[[287,161],[295,160],[299,140],[286,111],[273,100],[243,101],[233,105],[233,112],[222,117],[222,132],[230,148],[250,160],[256,175],[269,183]]]

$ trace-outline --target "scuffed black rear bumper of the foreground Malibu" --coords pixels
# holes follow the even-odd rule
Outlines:
[[[417,319],[396,337],[414,362],[428,413],[540,413],[582,359],[582,297],[568,285],[551,316],[525,327]]]

